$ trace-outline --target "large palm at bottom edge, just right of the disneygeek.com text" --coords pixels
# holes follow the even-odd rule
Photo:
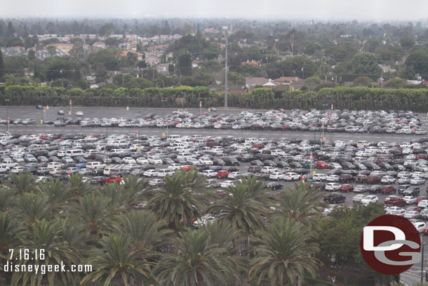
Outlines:
[[[101,248],[91,249],[88,264],[95,267],[81,280],[81,285],[104,281],[103,285],[128,285],[140,273],[149,279],[152,263],[141,259],[142,250],[131,249],[131,237],[126,234],[112,234],[102,238]]]

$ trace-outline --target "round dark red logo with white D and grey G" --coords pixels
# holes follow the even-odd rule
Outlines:
[[[420,236],[401,216],[379,216],[363,229],[361,254],[368,266],[386,275],[403,273],[421,259]]]

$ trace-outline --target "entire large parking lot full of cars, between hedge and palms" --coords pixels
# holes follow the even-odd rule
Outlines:
[[[67,112],[8,108],[10,133],[0,135],[4,180],[13,172],[39,181],[79,173],[94,184],[120,183],[132,174],[159,186],[163,176],[196,168],[219,195],[241,176],[258,176],[273,195],[305,177],[326,195],[328,188],[344,195],[338,204],[349,206],[359,190],[379,204],[406,189],[419,189],[409,193],[415,199],[427,195],[427,117],[412,112],[74,108],[67,118],[60,110]],[[35,124],[15,122],[25,118]],[[379,190],[370,193],[374,185]],[[403,208],[415,207],[415,199]]]

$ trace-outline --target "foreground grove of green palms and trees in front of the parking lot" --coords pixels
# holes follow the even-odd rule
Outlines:
[[[31,174],[13,174],[0,188],[0,282],[330,285],[330,274],[347,285],[374,285],[358,245],[363,226],[384,214],[382,206],[337,208],[327,219],[323,195],[308,183],[272,196],[251,176],[219,196],[204,180],[193,170],[166,176],[159,188],[137,176],[93,186],[78,174],[39,183]],[[204,214],[215,221],[194,223]],[[30,249],[32,257],[44,249],[45,259],[15,264],[62,261],[93,270],[5,272],[10,249]]]

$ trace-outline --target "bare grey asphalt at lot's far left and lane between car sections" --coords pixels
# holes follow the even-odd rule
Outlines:
[[[131,134],[136,133],[139,129],[138,127],[133,128],[119,128],[119,127],[81,127],[75,125],[67,125],[64,127],[55,127],[53,125],[41,125],[40,120],[44,119],[44,121],[55,120],[57,117],[58,110],[65,111],[65,117],[69,117],[68,111],[69,107],[60,107],[53,108],[50,107],[46,110],[46,114],[43,110],[38,110],[34,107],[8,107],[5,106],[0,107],[0,119],[6,119],[7,115],[11,119],[25,119],[25,118],[34,118],[36,121],[35,125],[15,125],[9,124],[9,131],[22,133],[22,134],[39,134],[39,133],[79,133],[79,134]],[[138,118],[138,110],[140,110],[140,117],[144,117],[148,113],[156,113],[156,115],[163,115],[162,108],[130,108],[126,110],[126,108],[72,108],[72,118],[76,118],[74,115],[77,111],[83,112],[83,118],[85,117],[126,117],[126,118]],[[165,109],[166,114],[172,113],[177,108],[169,108]],[[199,110],[189,109],[189,112],[197,113]],[[208,112],[208,109],[202,109],[203,112]],[[229,109],[221,109],[218,110],[217,113],[228,113],[228,114],[239,114],[243,109],[229,108]],[[248,110],[253,111],[253,110]],[[260,110],[258,110],[260,111]],[[46,117],[46,118],[45,118]],[[428,117],[426,115],[420,115],[422,121],[422,127],[427,126]],[[0,125],[0,132],[6,132],[6,124]],[[192,134],[200,134],[201,136],[239,136],[239,137],[257,137],[257,138],[300,138],[302,140],[305,139],[314,139],[319,140],[320,132],[312,132],[312,131],[251,131],[251,130],[224,130],[224,129],[162,129],[162,128],[140,128],[141,135],[158,135],[161,136],[165,133],[168,134],[178,134],[178,135],[192,135]],[[387,142],[407,142],[413,139],[421,138],[423,136],[420,135],[398,135],[398,134],[347,134],[347,133],[325,133],[324,136],[326,140],[366,140],[366,141],[387,141]]]

